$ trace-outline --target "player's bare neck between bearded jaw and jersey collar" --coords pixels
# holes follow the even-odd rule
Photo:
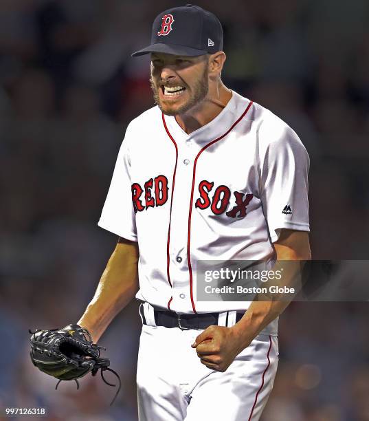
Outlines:
[[[214,120],[232,98],[232,91],[223,83],[210,89],[201,103],[185,114],[175,116],[183,131],[190,134]]]

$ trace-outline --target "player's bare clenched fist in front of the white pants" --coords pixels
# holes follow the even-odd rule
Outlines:
[[[236,356],[251,343],[233,327],[209,326],[192,343],[192,348],[196,348],[197,356],[206,367],[225,371],[230,367]]]

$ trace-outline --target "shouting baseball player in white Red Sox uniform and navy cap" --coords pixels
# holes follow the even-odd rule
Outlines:
[[[97,342],[141,301],[139,420],[258,420],[288,301],[197,300],[197,262],[310,259],[309,157],[280,118],[223,85],[221,23],[160,13],[156,106],[127,127],[99,226],[118,244],[78,325]]]

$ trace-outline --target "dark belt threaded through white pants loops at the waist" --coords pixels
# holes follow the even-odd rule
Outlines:
[[[142,316],[144,325],[147,325],[144,306],[139,306],[139,313]],[[236,323],[240,321],[244,313],[236,314]],[[181,330],[206,329],[209,326],[218,325],[219,313],[199,313],[199,314],[177,314],[166,310],[154,310],[155,324],[164,327],[179,327]],[[225,326],[227,326],[228,314]]]

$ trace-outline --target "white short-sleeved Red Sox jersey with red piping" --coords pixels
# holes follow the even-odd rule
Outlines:
[[[190,134],[153,107],[126,129],[98,225],[138,241],[137,299],[177,313],[246,310],[197,302],[196,262],[272,262],[281,228],[309,231],[308,171],[296,133],[234,91]]]

